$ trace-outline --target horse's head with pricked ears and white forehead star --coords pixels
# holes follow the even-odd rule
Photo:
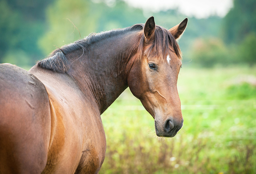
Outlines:
[[[128,75],[128,86],[155,119],[160,137],[173,137],[183,126],[177,79],[181,52],[176,42],[187,26],[187,18],[167,30],[155,25],[154,17],[145,23],[137,59]]]

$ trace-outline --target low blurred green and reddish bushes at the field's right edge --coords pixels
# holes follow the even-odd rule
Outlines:
[[[195,66],[214,67],[232,64],[256,63],[256,35],[248,34],[239,44],[226,45],[221,39],[197,39],[191,49],[191,59]]]

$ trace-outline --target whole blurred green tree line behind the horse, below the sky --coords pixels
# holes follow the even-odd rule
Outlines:
[[[189,18],[179,44],[183,62],[191,66],[256,62],[256,2],[234,0],[224,18]],[[90,0],[0,0],[0,63],[31,67],[62,45],[92,32],[145,23],[153,15],[167,29],[185,15],[177,10],[148,12],[121,0],[112,4]]]

